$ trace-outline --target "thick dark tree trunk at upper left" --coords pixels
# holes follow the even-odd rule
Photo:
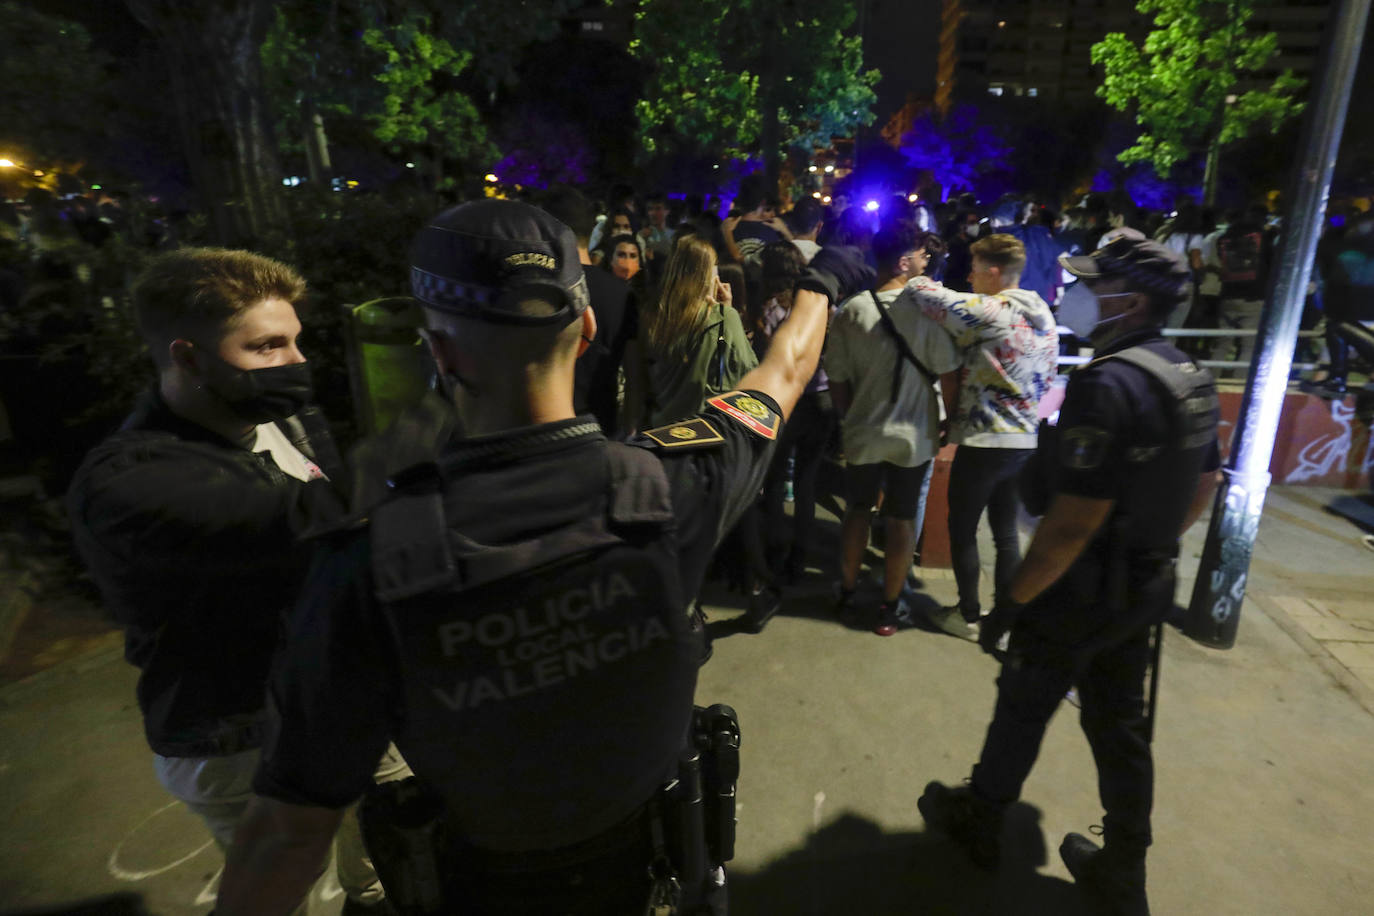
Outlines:
[[[170,73],[191,177],[221,244],[286,225],[282,168],[258,49],[268,0],[125,0]]]

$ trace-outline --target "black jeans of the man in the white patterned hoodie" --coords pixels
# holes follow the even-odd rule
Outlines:
[[[988,509],[998,549],[993,588],[1003,595],[1021,562],[1017,540],[1017,478],[1035,449],[980,449],[960,445],[949,468],[949,552],[959,608],[978,611],[978,519]]]

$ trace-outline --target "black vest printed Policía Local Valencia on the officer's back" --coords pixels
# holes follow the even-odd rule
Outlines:
[[[676,773],[702,647],[668,479],[643,449],[609,442],[605,456],[600,511],[530,540],[464,537],[438,486],[372,515],[404,696],[396,743],[471,845],[576,843]]]

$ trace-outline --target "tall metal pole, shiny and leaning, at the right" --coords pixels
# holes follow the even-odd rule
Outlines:
[[[1250,553],[1270,488],[1274,437],[1287,393],[1298,320],[1322,233],[1331,170],[1345,128],[1369,11],[1370,0],[1337,0],[1336,15],[1327,23],[1322,43],[1325,54],[1318,56],[1323,66],[1307,106],[1301,151],[1289,177],[1285,195],[1289,211],[1275,268],[1270,273],[1254,358],[1231,439],[1231,460],[1212,508],[1202,564],[1183,626],[1184,633],[1216,648],[1235,644],[1241,622]]]

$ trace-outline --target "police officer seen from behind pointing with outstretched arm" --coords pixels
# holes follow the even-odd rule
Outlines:
[[[682,816],[662,803],[702,652],[688,604],[815,371],[829,304],[871,272],[819,254],[738,391],[622,445],[572,407],[596,334],[572,231],[466,203],[411,264],[462,435],[322,549],[217,912],[290,912],[389,740],[440,810],[429,912],[723,912],[724,872],[673,850]]]

